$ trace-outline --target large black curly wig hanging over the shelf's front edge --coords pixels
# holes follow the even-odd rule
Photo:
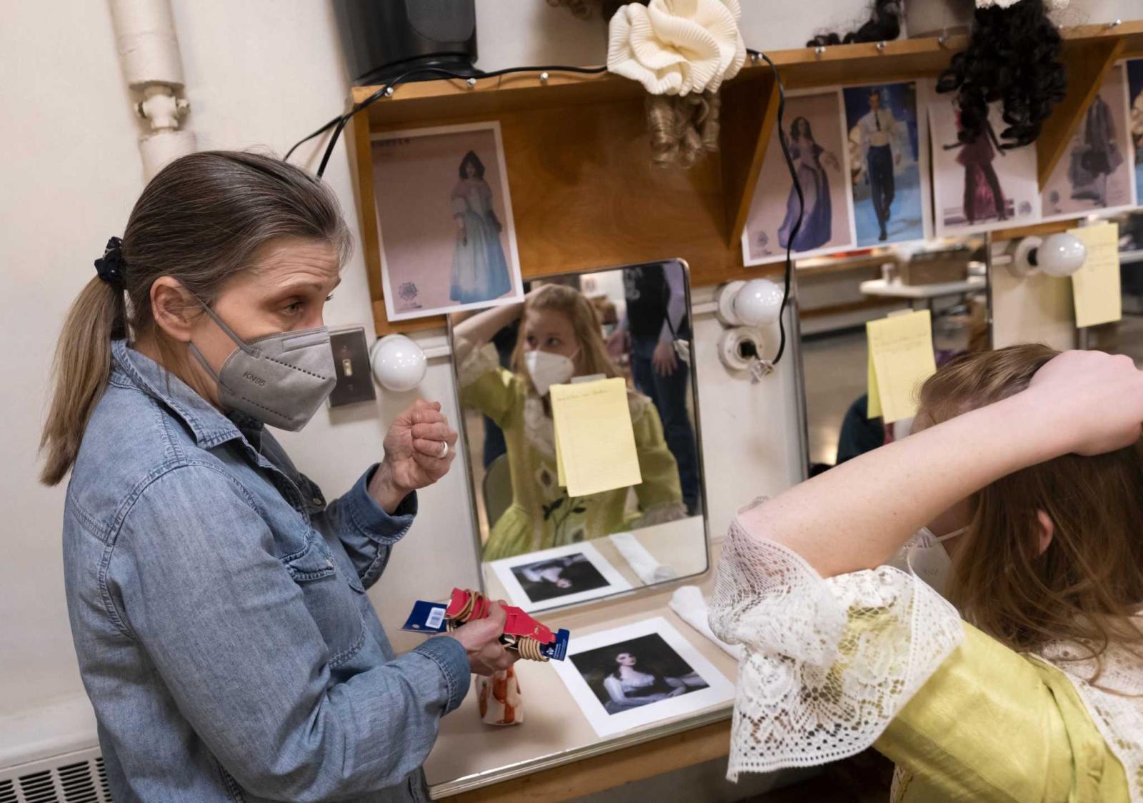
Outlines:
[[[1048,18],[1044,0],[977,8],[968,48],[952,57],[936,85],[937,92],[958,93],[961,142],[981,135],[989,104],[996,101],[1008,124],[1000,133],[1001,146],[1034,142],[1068,89],[1060,51],[1060,31]]]

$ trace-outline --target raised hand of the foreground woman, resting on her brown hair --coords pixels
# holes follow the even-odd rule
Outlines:
[[[1103,454],[1130,446],[1143,434],[1143,372],[1130,357],[1065,351],[1032,377],[1029,400],[1046,416],[1046,438],[1062,454]]]

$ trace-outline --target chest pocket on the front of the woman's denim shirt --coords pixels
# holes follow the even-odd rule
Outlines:
[[[329,651],[330,668],[352,658],[365,644],[365,620],[355,599],[361,583],[342,579],[337,560],[321,534],[309,528],[305,546],[282,558],[294,582],[302,589],[305,606],[318,625]],[[357,580],[357,575],[352,577]]]

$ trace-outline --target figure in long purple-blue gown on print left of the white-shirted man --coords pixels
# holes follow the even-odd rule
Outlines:
[[[838,158],[814,141],[809,120],[796,118],[790,126],[790,158],[805,199],[801,226],[793,238],[793,251],[821,248],[833,236],[833,207],[830,201],[830,178],[825,168],[840,172]],[[790,188],[786,215],[778,229],[778,245],[790,247],[790,234],[798,221],[798,192]]]

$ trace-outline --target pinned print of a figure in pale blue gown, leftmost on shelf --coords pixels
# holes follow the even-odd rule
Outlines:
[[[522,297],[498,122],[376,134],[373,180],[390,320]]]

